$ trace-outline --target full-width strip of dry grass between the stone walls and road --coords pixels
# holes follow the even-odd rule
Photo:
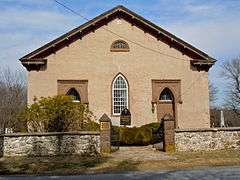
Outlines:
[[[161,152],[163,153],[163,152]],[[141,161],[117,157],[4,157],[0,159],[0,174],[84,174],[118,173],[123,171],[159,171],[208,166],[240,165],[240,151],[177,152],[167,154],[171,160]]]

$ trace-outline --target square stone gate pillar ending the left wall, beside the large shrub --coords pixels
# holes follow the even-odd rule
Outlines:
[[[101,154],[111,153],[111,119],[103,114],[100,121],[100,152]]]

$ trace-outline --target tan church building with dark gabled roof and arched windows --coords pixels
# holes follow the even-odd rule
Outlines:
[[[158,25],[117,6],[20,59],[34,97],[74,96],[99,119],[131,126],[160,122],[210,127],[208,70],[216,61]]]

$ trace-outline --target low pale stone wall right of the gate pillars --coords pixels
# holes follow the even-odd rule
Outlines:
[[[240,128],[204,128],[175,130],[177,151],[240,149]]]

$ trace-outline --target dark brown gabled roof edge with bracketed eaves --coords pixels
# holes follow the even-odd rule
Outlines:
[[[86,34],[94,32],[94,30],[106,25],[115,18],[123,18],[127,20],[132,25],[137,26],[143,29],[146,33],[155,36],[158,40],[169,44],[170,47],[178,49],[183,54],[190,56],[194,62],[195,60],[198,62],[204,61],[205,64],[207,62],[208,64],[212,65],[216,61],[214,58],[208,56],[201,50],[193,47],[187,42],[181,40],[180,38],[153,24],[138,14],[130,11],[124,6],[116,6],[115,8],[95,17],[94,19],[82,24],[81,26],[60,36],[59,38],[25,55],[24,57],[20,58],[20,61],[25,64],[28,62],[33,62],[34,59],[39,60],[41,58],[45,58],[49,54],[56,52],[58,49],[70,44],[71,42],[81,39],[81,37],[85,36]]]

